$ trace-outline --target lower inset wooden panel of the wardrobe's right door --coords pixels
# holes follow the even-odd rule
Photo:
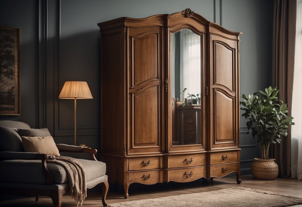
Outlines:
[[[215,90],[215,143],[230,142],[234,139],[234,99]]]

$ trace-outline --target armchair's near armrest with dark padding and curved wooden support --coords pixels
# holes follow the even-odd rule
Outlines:
[[[46,185],[52,185],[53,175],[50,173],[47,167],[46,158],[47,158],[46,154],[38,154],[38,153],[31,153],[31,152],[1,152],[0,153],[0,160],[41,160],[42,170],[45,176]]]

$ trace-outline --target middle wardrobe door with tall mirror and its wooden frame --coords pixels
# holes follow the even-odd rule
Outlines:
[[[187,20],[187,19],[185,19]],[[186,25],[188,27],[188,25]],[[169,100],[170,133],[168,151],[205,149],[206,34],[195,27],[169,28]]]

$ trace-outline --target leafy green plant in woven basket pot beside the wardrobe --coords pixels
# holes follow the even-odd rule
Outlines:
[[[271,143],[280,143],[281,135],[287,136],[286,124],[294,125],[293,117],[287,116],[286,103],[278,99],[279,90],[271,86],[265,91],[259,91],[246,96],[240,104],[245,112],[242,114],[247,119],[246,126],[252,130],[252,136],[257,136],[261,146],[261,158],[254,158],[251,166],[252,176],[256,179],[274,180],[278,176],[278,165],[275,159],[268,158]],[[281,103],[281,105],[279,104]]]

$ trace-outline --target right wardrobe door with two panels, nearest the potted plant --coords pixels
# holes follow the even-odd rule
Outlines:
[[[233,148],[239,137],[239,42],[210,34],[208,148]]]

